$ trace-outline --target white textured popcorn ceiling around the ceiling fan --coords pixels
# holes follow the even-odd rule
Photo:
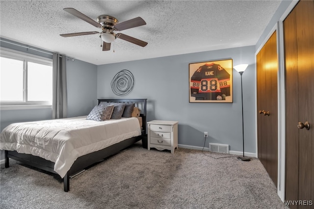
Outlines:
[[[59,52],[96,65],[191,52],[255,45],[280,0],[1,0],[2,38]],[[103,52],[98,34],[61,37],[59,34],[101,31],[65,12],[72,7],[97,21],[111,15],[124,22],[143,18],[147,25],[121,31],[148,42],[144,48],[122,39]],[[114,52],[113,52],[114,48]]]

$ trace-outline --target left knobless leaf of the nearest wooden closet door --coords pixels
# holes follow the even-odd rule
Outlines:
[[[296,121],[299,119],[297,42],[295,12],[284,21],[286,70],[286,200],[298,200],[299,143]],[[293,83],[294,85],[291,85]],[[296,84],[296,85],[295,85]],[[291,206],[293,208],[293,206]]]

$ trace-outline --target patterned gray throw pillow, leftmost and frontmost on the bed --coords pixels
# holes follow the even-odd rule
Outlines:
[[[105,121],[110,120],[114,105],[97,105],[87,115],[86,120]]]

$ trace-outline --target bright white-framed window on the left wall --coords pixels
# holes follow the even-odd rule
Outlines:
[[[52,104],[52,59],[1,49],[0,104]]]

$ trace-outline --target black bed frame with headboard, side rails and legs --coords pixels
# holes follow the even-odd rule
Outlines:
[[[141,109],[140,117],[142,117],[142,136],[146,134],[146,100],[147,99],[98,99],[98,104],[101,102],[109,103],[135,103],[135,106],[139,106]],[[123,140],[119,143],[113,144],[105,149],[78,157],[78,159],[73,163],[70,170],[63,178],[64,191],[70,190],[70,176],[77,174],[78,172],[84,170],[85,168],[105,159],[106,157],[112,156],[119,153],[120,151],[131,146],[135,142],[139,141],[141,136],[132,137]],[[15,159],[17,161],[23,162],[32,167],[36,167],[51,173],[56,172],[53,170],[54,162],[46,160],[42,157],[32,156],[30,154],[22,154],[16,151],[4,151],[5,155],[5,167],[9,167],[9,158]]]

